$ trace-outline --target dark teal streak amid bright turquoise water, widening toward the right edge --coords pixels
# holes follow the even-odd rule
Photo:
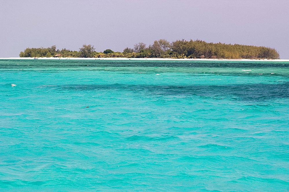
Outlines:
[[[220,79],[218,79],[220,80]],[[10,85],[11,86],[11,85]],[[289,82],[282,84],[237,84],[237,85],[134,85],[134,84],[71,84],[41,85],[37,88],[67,91],[124,90],[151,95],[201,96],[214,99],[268,100],[289,98]]]

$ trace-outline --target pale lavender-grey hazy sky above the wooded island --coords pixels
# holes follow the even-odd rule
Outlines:
[[[26,47],[123,51],[164,38],[275,48],[289,59],[289,0],[0,0],[0,57]]]

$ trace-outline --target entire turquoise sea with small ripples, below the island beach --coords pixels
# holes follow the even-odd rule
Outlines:
[[[289,63],[1,59],[0,191],[289,191]]]

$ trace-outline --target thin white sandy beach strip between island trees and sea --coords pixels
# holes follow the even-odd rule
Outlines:
[[[289,59],[173,59],[173,58],[124,58],[124,57],[105,57],[105,58],[84,58],[84,57],[37,57],[38,59],[51,60],[147,60],[147,61],[283,61]],[[34,59],[34,57],[2,57],[0,59]]]

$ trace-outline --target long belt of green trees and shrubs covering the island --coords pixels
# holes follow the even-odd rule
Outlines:
[[[168,42],[165,39],[155,40],[147,46],[143,42],[133,48],[125,48],[123,52],[114,52],[106,49],[96,52],[93,45],[84,44],[79,51],[69,49],[56,50],[53,45],[48,48],[26,48],[19,54],[20,57],[53,57],[56,54],[62,57],[127,57],[127,58],[224,58],[224,59],[279,59],[279,53],[269,47],[241,44],[207,43],[202,40],[176,40]]]

